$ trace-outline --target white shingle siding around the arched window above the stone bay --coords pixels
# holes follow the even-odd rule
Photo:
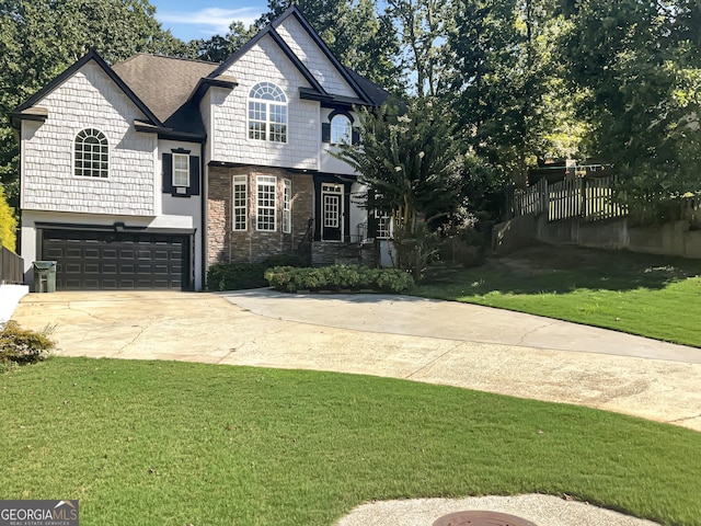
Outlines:
[[[214,130],[212,160],[268,167],[319,168],[321,123],[319,103],[302,101],[299,88],[309,87],[297,67],[271,36],[265,36],[225,75],[234,77],[233,91],[210,90]],[[249,139],[248,99],[258,82],[277,84],[287,96],[287,142]]]

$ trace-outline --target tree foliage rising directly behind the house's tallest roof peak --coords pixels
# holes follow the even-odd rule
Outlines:
[[[377,0],[268,0],[258,27],[292,3],[344,66],[387,90],[401,90],[397,32],[392,18],[380,13]]]

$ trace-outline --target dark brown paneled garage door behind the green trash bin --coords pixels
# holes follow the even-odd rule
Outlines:
[[[42,242],[57,290],[187,289],[188,256],[187,236],[44,230]]]

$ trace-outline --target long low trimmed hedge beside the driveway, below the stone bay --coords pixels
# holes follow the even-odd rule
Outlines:
[[[271,286],[283,293],[298,290],[363,290],[403,293],[414,285],[411,274],[398,268],[332,265],[322,268],[276,266],[265,273]]]

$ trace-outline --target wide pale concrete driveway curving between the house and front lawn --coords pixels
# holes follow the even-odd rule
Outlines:
[[[701,431],[701,350],[446,301],[379,295],[31,294],[64,356],[335,370],[575,403]]]

